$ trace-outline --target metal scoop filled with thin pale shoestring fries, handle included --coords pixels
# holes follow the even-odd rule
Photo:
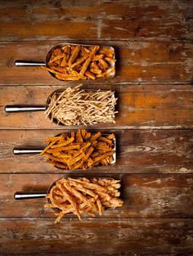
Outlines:
[[[6,106],[6,112],[45,110],[55,124],[80,125],[115,123],[117,98],[107,90],[85,90],[81,84],[57,90],[47,98],[46,106]]]

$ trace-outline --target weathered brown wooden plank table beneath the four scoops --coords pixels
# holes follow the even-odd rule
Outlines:
[[[193,253],[192,1],[0,1],[0,254],[187,255]],[[115,47],[114,79],[83,81],[119,97],[114,167],[52,168],[39,155],[16,156],[15,146],[43,146],[57,127],[43,112],[7,114],[10,104],[44,105],[53,79],[16,59],[43,61],[61,42]],[[60,131],[59,131],[60,130]],[[46,200],[16,201],[15,191],[46,189],[61,176],[118,177],[124,205],[99,218],[66,217],[54,224]]]

